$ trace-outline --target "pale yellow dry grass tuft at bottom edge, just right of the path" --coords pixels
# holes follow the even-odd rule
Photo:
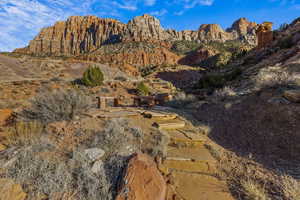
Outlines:
[[[247,200],[270,200],[263,187],[252,180],[241,182]]]

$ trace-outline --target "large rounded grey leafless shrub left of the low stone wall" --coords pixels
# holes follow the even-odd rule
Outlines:
[[[31,101],[31,107],[25,109],[22,116],[43,123],[72,120],[86,110],[90,102],[89,97],[76,90],[43,92]]]

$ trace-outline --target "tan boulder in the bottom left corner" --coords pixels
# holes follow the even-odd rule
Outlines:
[[[0,179],[0,200],[25,200],[27,194],[21,185],[10,179]]]

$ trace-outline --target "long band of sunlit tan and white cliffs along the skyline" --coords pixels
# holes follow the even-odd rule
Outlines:
[[[34,55],[80,55],[92,52],[104,44],[132,41],[198,42],[241,39],[255,44],[255,23],[242,18],[224,31],[217,24],[202,25],[197,31],[164,30],[160,21],[153,16],[143,15],[123,24],[114,19],[95,16],[73,16],[64,22],[44,28],[27,47],[15,52]]]

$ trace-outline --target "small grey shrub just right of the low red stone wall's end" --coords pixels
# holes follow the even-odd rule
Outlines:
[[[173,108],[184,108],[188,104],[195,101],[197,101],[197,98],[194,95],[179,92],[173,97],[171,101],[168,101],[166,105]]]

